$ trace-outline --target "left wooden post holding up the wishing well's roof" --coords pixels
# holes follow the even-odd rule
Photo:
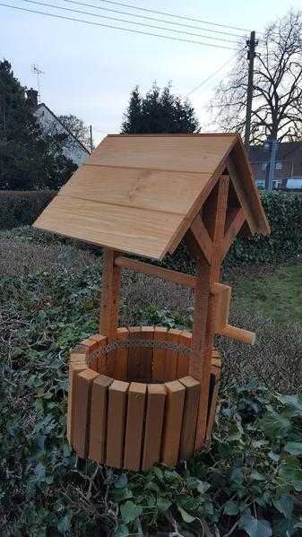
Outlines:
[[[116,339],[120,287],[120,267],[115,258],[119,253],[111,248],[103,250],[103,274],[100,299],[99,333],[108,339]]]

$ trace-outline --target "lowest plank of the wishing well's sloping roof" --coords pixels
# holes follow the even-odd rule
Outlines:
[[[162,259],[185,220],[174,212],[142,211],[56,195],[35,227],[138,256]]]

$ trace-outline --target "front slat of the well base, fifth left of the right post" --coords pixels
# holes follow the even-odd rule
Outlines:
[[[122,468],[123,465],[128,387],[128,382],[114,380],[108,389],[106,464],[115,468]]]

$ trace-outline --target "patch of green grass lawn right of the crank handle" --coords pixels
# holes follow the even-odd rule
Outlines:
[[[283,265],[270,274],[238,281],[233,307],[277,323],[302,322],[302,263]]]

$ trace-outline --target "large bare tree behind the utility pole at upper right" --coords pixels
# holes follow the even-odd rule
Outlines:
[[[240,50],[226,82],[221,82],[211,111],[220,128],[244,132],[247,61]],[[259,39],[255,57],[251,143],[268,137],[302,138],[302,13],[289,11],[270,24]]]

